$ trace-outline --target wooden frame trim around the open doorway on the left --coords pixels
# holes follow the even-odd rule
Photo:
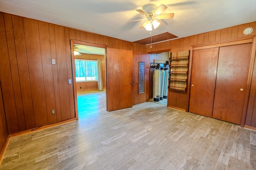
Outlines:
[[[92,47],[99,47],[105,49],[105,61],[106,61],[106,48],[108,45],[104,44],[95,44],[95,43],[88,43],[85,41],[79,41],[75,39],[70,39],[70,50],[71,50],[71,64],[72,64],[72,81],[73,81],[73,90],[74,90],[74,105],[75,105],[75,117],[78,120],[78,107],[77,107],[77,92],[76,92],[76,70],[75,70],[75,56],[74,56],[74,44],[92,46]],[[106,89],[107,90],[107,89]],[[107,100],[107,98],[106,98]],[[106,101],[107,102],[107,101]]]

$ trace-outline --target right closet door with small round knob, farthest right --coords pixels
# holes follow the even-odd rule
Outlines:
[[[241,123],[252,43],[220,47],[212,117]]]

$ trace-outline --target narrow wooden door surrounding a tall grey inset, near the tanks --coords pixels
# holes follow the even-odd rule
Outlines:
[[[149,71],[150,71],[150,60],[149,54],[147,53],[133,53],[133,89],[132,89],[132,105],[148,102],[149,100]],[[138,93],[139,81],[139,62],[144,62],[144,93]]]

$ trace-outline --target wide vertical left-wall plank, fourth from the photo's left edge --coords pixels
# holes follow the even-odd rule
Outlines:
[[[44,76],[40,53],[38,21],[24,18],[24,33],[28,57],[28,70],[31,84],[33,109],[36,127],[47,125]]]

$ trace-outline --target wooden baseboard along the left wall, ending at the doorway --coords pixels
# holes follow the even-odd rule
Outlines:
[[[68,120],[61,121],[61,122],[54,123],[54,124],[50,124],[50,125],[44,125],[44,126],[42,126],[42,127],[38,127],[38,128],[34,128],[34,129],[29,129],[29,130],[22,131],[22,132],[13,133],[13,134],[10,134],[9,136],[10,136],[10,138],[12,138],[12,137],[24,135],[24,134],[27,134],[27,133],[32,133],[32,132],[40,131],[40,130],[42,130],[42,129],[47,129],[47,128],[50,128],[50,127],[53,127],[53,126],[57,126],[57,125],[62,125],[62,124],[65,124],[65,123],[69,123],[69,122],[71,122],[71,121],[76,121],[76,118],[68,119]]]

